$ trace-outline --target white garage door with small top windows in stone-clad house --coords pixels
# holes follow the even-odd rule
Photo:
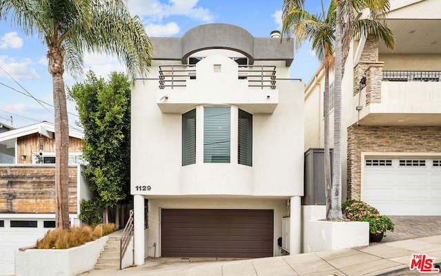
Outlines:
[[[441,215],[441,159],[365,158],[362,200],[382,215]]]

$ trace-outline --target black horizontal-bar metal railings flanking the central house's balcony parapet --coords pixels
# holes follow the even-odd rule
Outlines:
[[[196,65],[159,66],[159,88],[186,87],[187,80],[196,79]],[[276,89],[276,66],[240,65],[238,79],[248,80],[248,87]]]

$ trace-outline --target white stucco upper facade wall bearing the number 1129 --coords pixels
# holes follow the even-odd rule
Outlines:
[[[213,72],[201,70],[187,89],[175,94],[200,94],[205,100],[182,112],[162,113],[157,103],[161,93],[158,81],[138,81],[132,89],[132,194],[151,195],[302,195],[303,193],[303,87],[300,82],[277,81],[277,89],[249,89],[237,78],[237,64],[224,56],[212,56],[201,63],[211,68],[221,64],[227,75],[220,81]],[[152,69],[155,72],[157,68]],[[231,72],[232,71],[232,72]],[[286,68],[277,71],[285,78]],[[199,71],[198,71],[199,72]],[[220,76],[220,75],[219,75]],[[245,82],[244,82],[245,81]],[[254,113],[253,166],[237,164],[237,110],[259,109],[260,103],[242,98],[245,94],[276,98],[272,114]],[[239,96],[234,96],[238,94]],[[229,96],[228,96],[229,95]],[[223,98],[226,96],[227,98]],[[273,97],[274,96],[274,97]],[[235,98],[236,97],[236,98]],[[195,98],[198,98],[195,96]],[[242,99],[240,99],[242,98]],[[169,97],[170,100],[171,98]],[[225,100],[225,101],[223,101]],[[231,104],[234,102],[235,104]],[[203,106],[227,105],[232,110],[231,162],[203,163]],[[243,105],[243,106],[242,106]],[[196,107],[196,164],[181,165],[182,113]],[[206,183],[209,182],[210,185]],[[150,191],[136,191],[136,186],[150,186]]]

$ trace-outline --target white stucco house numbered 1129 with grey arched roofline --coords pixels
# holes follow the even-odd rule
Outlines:
[[[280,255],[282,236],[299,253],[305,84],[289,80],[293,41],[218,23],[151,39],[150,76],[132,89],[135,264]]]

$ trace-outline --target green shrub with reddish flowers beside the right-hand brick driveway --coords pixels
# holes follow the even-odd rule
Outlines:
[[[342,204],[343,213],[349,220],[369,222],[369,233],[383,233],[393,231],[395,226],[386,215],[380,215],[377,209],[361,200],[347,200]]]

